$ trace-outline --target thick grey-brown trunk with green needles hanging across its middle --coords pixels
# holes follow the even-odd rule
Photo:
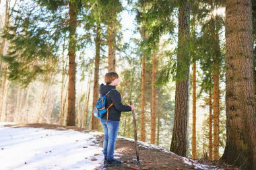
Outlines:
[[[177,80],[175,90],[174,126],[170,151],[187,156],[189,122],[189,65],[188,51],[190,7],[183,1],[179,7],[179,37],[177,54]]]

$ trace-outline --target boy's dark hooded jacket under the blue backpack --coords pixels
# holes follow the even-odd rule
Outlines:
[[[108,93],[108,91],[110,91],[110,93]],[[122,104],[121,95],[120,95],[119,91],[117,91],[115,86],[101,84],[100,85],[100,94],[104,95],[106,93],[108,93],[108,94],[106,95],[105,107],[108,108],[108,106],[111,103],[113,103],[113,105],[109,108],[108,120],[120,121],[121,112],[129,112],[129,111],[131,111],[131,107],[129,105]],[[106,119],[106,116],[103,116],[102,118]]]

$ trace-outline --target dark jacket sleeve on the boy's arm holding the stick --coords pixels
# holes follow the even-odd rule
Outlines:
[[[110,92],[111,100],[113,101],[113,104],[117,110],[120,112],[129,112],[131,111],[131,107],[129,105],[123,105],[121,101],[121,95],[117,90],[113,90]]]

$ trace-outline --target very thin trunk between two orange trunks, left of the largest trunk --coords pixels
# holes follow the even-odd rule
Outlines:
[[[209,159],[212,161],[212,87],[209,92]]]

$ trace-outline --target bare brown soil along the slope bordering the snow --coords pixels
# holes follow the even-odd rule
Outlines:
[[[73,126],[60,126],[56,124],[15,124],[7,125],[7,127],[19,128],[19,127],[33,127],[33,128],[46,128],[55,130],[76,130],[79,132],[90,132],[92,130],[85,130],[83,128],[77,128]],[[97,135],[97,141],[102,146],[103,135]],[[183,162],[183,158],[173,153],[164,152],[164,149],[156,149],[150,146],[143,146],[138,144],[139,148],[139,161],[140,165],[137,166],[135,144],[133,141],[126,140],[124,138],[118,138],[115,154],[120,157],[119,161],[122,161],[122,165],[118,167],[104,167],[103,163],[101,167],[96,169],[200,169],[197,168],[197,164],[207,165],[207,169],[238,169],[230,165],[224,165],[218,162],[204,162],[188,159],[191,165]],[[215,167],[212,167],[215,166]]]

